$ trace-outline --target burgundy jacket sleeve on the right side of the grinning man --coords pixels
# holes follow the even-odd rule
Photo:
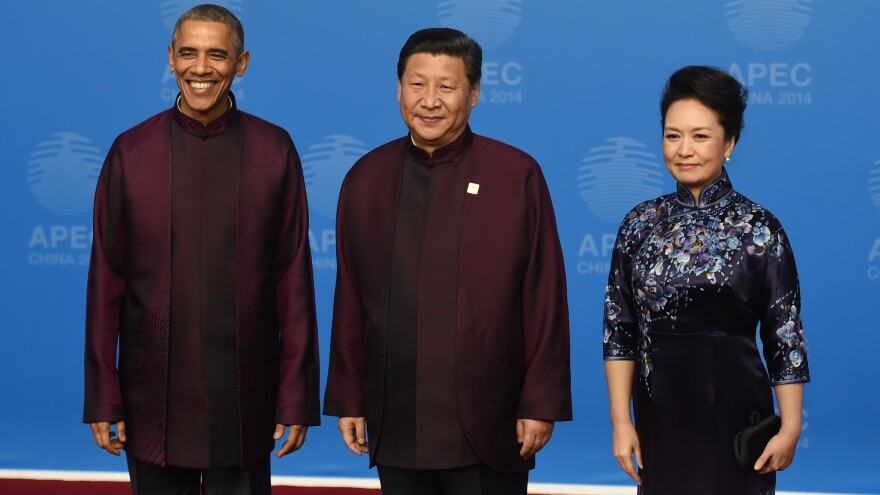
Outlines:
[[[320,373],[309,210],[302,165],[292,143],[289,153],[275,261],[275,297],[281,327],[276,422],[318,425]]]

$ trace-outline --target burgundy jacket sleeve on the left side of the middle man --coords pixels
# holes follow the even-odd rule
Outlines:
[[[333,299],[333,329],[330,339],[330,368],[324,394],[324,414],[361,417],[364,412],[364,325],[365,311],[346,235],[346,191],[343,182],[336,210],[336,294]]]

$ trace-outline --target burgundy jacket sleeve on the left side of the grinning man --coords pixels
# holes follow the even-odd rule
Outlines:
[[[125,419],[116,367],[125,297],[122,186],[122,156],[114,143],[95,191],[94,240],[86,289],[85,423]]]

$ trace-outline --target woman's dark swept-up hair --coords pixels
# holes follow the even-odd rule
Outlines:
[[[724,128],[724,139],[739,141],[745,124],[743,113],[749,101],[749,90],[735,77],[715,67],[691,65],[672,74],[660,100],[660,124],[666,128],[666,111],[679,100],[697,100],[709,107]]]

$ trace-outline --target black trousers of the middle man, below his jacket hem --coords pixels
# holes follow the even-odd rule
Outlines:
[[[382,495],[526,495],[529,472],[502,473],[475,464],[452,469],[378,465]]]

